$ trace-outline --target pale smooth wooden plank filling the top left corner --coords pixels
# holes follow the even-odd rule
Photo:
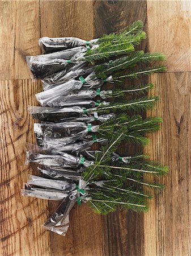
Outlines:
[[[40,53],[39,1],[1,1],[0,22],[0,79],[29,79],[26,55]]]

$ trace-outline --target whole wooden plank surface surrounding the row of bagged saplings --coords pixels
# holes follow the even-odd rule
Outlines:
[[[187,256],[190,249],[190,43],[189,1],[1,1],[0,159],[1,256]],[[96,38],[142,19],[142,47],[167,54],[168,71],[152,75],[160,102],[147,115],[164,118],[145,148],[169,166],[166,185],[146,214],[116,212],[101,217],[75,205],[66,237],[45,231],[56,207],[20,196],[31,171],[25,142],[35,142],[27,105],[36,105],[40,82],[32,81],[26,55],[40,53],[40,36]],[[128,151],[134,151],[129,148]]]

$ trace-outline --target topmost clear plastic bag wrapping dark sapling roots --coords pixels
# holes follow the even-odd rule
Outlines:
[[[95,44],[98,39],[86,41],[80,38],[66,37],[66,38],[49,38],[45,36],[39,39],[39,46],[43,52],[56,52],[63,49],[69,49],[79,46],[86,46]]]

